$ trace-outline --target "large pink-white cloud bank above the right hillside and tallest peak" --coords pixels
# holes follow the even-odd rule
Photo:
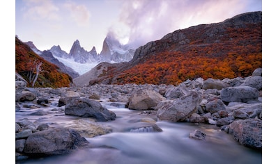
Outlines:
[[[180,28],[222,22],[242,13],[249,4],[240,0],[122,0],[121,3],[121,15],[110,31],[118,40],[128,40],[134,48]]]

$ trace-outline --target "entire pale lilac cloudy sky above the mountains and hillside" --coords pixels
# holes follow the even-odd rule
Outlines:
[[[41,51],[75,40],[102,50],[107,33],[137,48],[178,29],[262,10],[262,0],[16,0],[15,35]]]

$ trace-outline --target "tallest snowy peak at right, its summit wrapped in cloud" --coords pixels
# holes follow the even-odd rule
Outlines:
[[[128,62],[132,60],[133,55],[134,49],[131,49],[128,45],[122,45],[111,33],[107,34],[100,52],[101,61],[108,63]]]

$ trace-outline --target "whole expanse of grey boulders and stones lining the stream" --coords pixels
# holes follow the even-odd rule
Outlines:
[[[84,131],[93,136],[111,133],[111,129],[97,122],[117,119],[100,101],[122,102],[130,110],[155,115],[157,121],[215,124],[229,133],[241,145],[262,149],[262,69],[252,76],[235,79],[187,80],[180,85],[91,85],[71,88],[26,88],[16,74],[15,110],[49,106],[51,99],[59,99],[53,111],[64,115],[91,117],[95,124],[83,122]],[[52,104],[53,105],[53,104]],[[38,110],[32,115],[47,115]],[[153,122],[151,119],[146,122]],[[155,122],[155,121],[154,121]],[[80,122],[79,122],[80,124]],[[92,128],[93,126],[93,128]],[[162,131],[155,123],[153,131]],[[86,129],[87,128],[87,129]],[[140,128],[145,128],[142,125]],[[69,127],[51,127],[28,119],[15,122],[15,151],[17,159],[28,156],[66,154],[86,147],[88,136]],[[84,138],[85,137],[85,138]],[[204,139],[206,134],[194,131],[190,138]]]

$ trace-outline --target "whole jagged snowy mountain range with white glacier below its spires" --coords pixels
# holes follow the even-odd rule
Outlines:
[[[36,52],[36,54],[43,54],[43,51],[38,50],[33,42],[29,41],[26,42],[26,44],[28,44],[29,47]],[[134,49],[130,48],[128,45],[122,45],[111,33],[108,33],[107,37],[103,41],[102,51],[100,54],[97,53],[95,47],[93,47],[91,51],[86,51],[83,47],[81,47],[79,40],[75,40],[75,42],[73,42],[69,54],[63,51],[59,45],[54,45],[51,49],[45,51],[48,52],[48,56],[45,59],[52,62],[55,58],[54,64],[59,67],[67,67],[68,70],[62,69],[62,71],[72,76],[72,78],[88,72],[98,63],[128,62],[132,60],[134,55]],[[47,52],[45,52],[45,54]],[[49,58],[49,53],[52,54],[53,58]],[[58,60],[58,62],[56,60]]]

